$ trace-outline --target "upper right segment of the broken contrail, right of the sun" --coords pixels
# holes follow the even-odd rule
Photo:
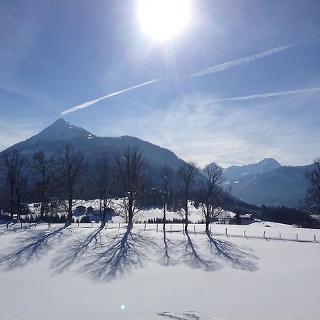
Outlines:
[[[246,58],[239,58],[237,60],[233,60],[233,61],[229,61],[227,63],[222,63],[221,65],[215,65],[213,67],[210,68],[206,68],[200,71],[197,71],[196,73],[193,73],[191,75],[187,75],[186,78],[193,78],[193,77],[200,77],[201,75],[208,75],[209,73],[218,73],[219,71],[228,69],[228,68],[233,68],[237,65],[243,65],[244,63],[250,63],[252,61],[261,59],[266,57],[267,55],[273,55],[274,53],[278,53],[282,50],[286,50],[289,48],[292,48],[296,46],[296,44],[291,44],[288,46],[281,46],[278,48],[273,48],[267,51],[264,51],[262,53],[257,53],[255,55],[250,55],[250,57],[246,57]]]

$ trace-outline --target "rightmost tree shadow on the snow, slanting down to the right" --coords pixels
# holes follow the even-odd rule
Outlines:
[[[209,231],[206,232],[206,235],[208,237],[210,252],[213,255],[223,258],[223,260],[230,263],[230,265],[236,269],[246,271],[257,270],[257,264],[255,262],[257,257],[241,250],[240,247],[232,242],[213,238]]]

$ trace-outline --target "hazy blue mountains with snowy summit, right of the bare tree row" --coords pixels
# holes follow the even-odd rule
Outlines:
[[[299,208],[308,188],[308,166],[282,166],[272,158],[257,164],[230,166],[223,169],[223,188],[231,187],[231,194],[256,206],[289,206]]]

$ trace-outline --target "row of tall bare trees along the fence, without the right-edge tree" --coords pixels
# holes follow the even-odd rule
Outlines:
[[[29,157],[30,158],[30,157]],[[200,174],[200,169],[193,162],[183,163],[178,171],[164,166],[156,172],[137,147],[127,147],[117,156],[102,154],[88,168],[84,155],[76,151],[71,144],[64,144],[55,154],[49,156],[43,151],[33,154],[32,160],[19,151],[6,151],[1,159],[1,171],[5,176],[5,189],[9,194],[9,213],[17,219],[21,214],[23,193],[26,193],[27,177],[36,180],[36,191],[40,201],[40,219],[49,211],[50,199],[58,199],[67,213],[66,225],[73,222],[73,208],[79,201],[79,190],[85,185],[82,180],[88,169],[93,172],[91,186],[100,199],[101,223],[106,223],[106,213],[110,208],[114,190],[122,198],[119,204],[129,226],[134,223],[134,216],[145,208],[146,195],[156,183],[159,186],[163,206],[163,221],[166,228],[166,212],[169,209],[169,198],[174,181],[178,181],[181,194],[185,230],[188,230],[188,201],[197,177],[202,183],[197,185],[200,208],[208,230],[210,222],[221,212],[223,193],[219,185],[222,181],[222,169],[216,164],[207,166]],[[86,176],[87,177],[87,176]],[[157,181],[155,181],[157,179]],[[26,197],[25,197],[26,198]]]

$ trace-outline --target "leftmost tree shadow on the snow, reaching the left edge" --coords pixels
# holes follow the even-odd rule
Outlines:
[[[52,247],[53,241],[58,240],[66,231],[65,227],[56,230],[34,230],[33,235],[24,235],[16,240],[16,249],[0,257],[0,267],[9,271],[16,267],[23,267],[28,262],[38,259]]]

